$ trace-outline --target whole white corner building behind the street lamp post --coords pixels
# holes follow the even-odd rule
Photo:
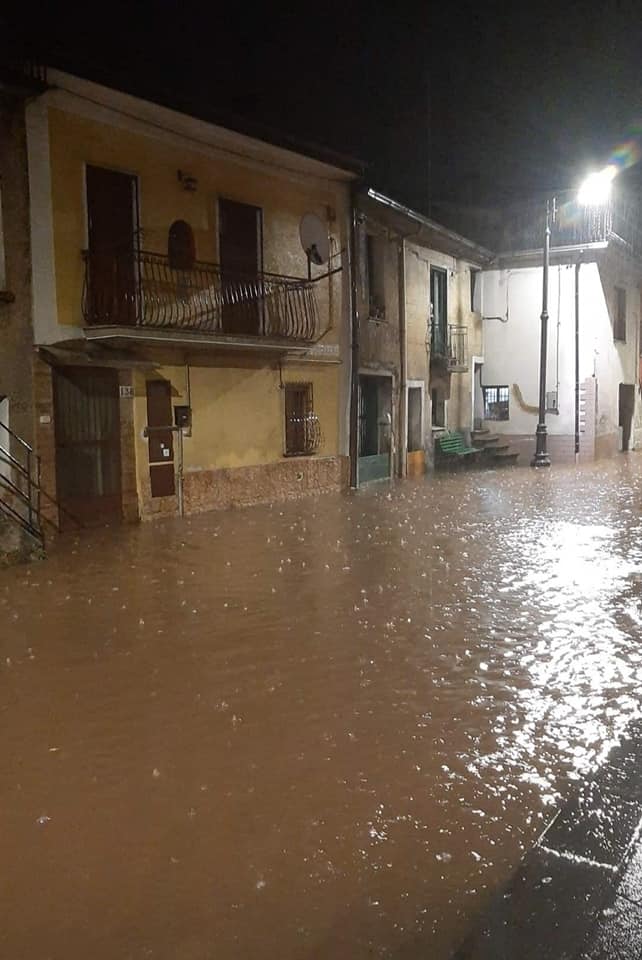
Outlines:
[[[575,207],[553,227],[546,423],[554,463],[574,459],[576,431],[583,460],[642,446],[642,263],[633,221],[621,213],[613,206],[589,217]],[[476,425],[509,440],[522,464],[538,420],[543,272],[541,248],[529,243],[543,236],[541,224],[524,230],[525,222],[522,214],[505,227],[510,248],[482,273],[484,357],[475,371]]]

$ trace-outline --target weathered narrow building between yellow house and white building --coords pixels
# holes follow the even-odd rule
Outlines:
[[[421,474],[474,427],[477,281],[492,254],[369,190],[357,203],[359,480]]]

